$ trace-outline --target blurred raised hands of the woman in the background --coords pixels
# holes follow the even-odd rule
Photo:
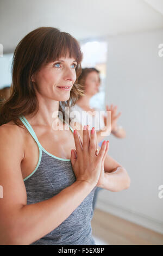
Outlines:
[[[110,118],[110,112],[107,112],[107,111],[111,111],[111,118]],[[103,115],[103,118],[104,118],[104,123],[105,123],[105,126],[110,129],[110,122],[108,121],[108,124],[106,123],[106,118],[108,118],[108,120],[111,119],[111,132],[112,131],[116,131],[117,128],[118,128],[118,125],[117,125],[117,119],[118,117],[120,117],[122,112],[119,112],[117,114],[117,105],[114,107],[113,104],[110,105],[106,105],[106,116]]]

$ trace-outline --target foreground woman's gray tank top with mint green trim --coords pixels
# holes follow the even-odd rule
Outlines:
[[[35,204],[54,197],[64,188],[72,185],[76,181],[76,176],[71,160],[48,153],[38,141],[28,120],[23,115],[19,118],[39,147],[37,166],[23,179],[27,192],[27,204]],[[73,132],[71,126],[70,129]],[[95,190],[96,187],[57,228],[30,245],[96,245],[91,227]]]

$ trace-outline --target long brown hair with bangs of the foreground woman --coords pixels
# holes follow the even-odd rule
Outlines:
[[[16,46],[12,60],[11,94],[8,100],[1,102],[0,125],[14,121],[23,127],[18,117],[27,114],[33,117],[38,112],[39,102],[32,76],[42,65],[66,57],[67,53],[77,61],[77,79],[71,89],[70,99],[59,102],[59,111],[65,120],[65,107],[73,106],[79,95],[84,95],[82,86],[77,83],[82,71],[83,53],[78,41],[69,33],[53,27],[40,27],[24,36]]]

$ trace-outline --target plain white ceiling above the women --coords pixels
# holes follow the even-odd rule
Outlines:
[[[161,29],[163,0],[0,0],[4,53],[40,26],[57,27],[78,40]]]

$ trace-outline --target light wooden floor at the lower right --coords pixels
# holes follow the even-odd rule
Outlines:
[[[96,245],[163,245],[162,234],[99,209],[91,224]]]

